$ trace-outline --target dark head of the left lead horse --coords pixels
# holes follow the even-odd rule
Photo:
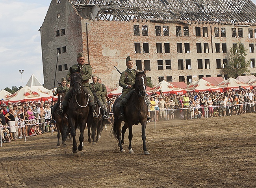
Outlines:
[[[71,67],[70,71],[70,84],[72,86],[75,95],[80,94],[83,91],[82,76],[80,74],[80,67],[78,66],[77,71],[73,70]]]

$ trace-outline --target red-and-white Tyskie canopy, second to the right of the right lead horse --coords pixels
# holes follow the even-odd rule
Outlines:
[[[192,91],[195,91],[195,92],[206,92],[206,91],[222,92],[223,91],[218,86],[215,86],[202,78],[199,79],[198,81],[194,81],[191,84],[187,85],[185,90],[190,91],[190,92],[192,92]]]

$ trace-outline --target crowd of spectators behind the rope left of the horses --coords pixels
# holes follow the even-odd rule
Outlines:
[[[49,101],[18,102],[17,104],[9,102],[6,105],[1,99],[0,106],[3,143],[55,130],[55,126],[50,124],[51,104]]]

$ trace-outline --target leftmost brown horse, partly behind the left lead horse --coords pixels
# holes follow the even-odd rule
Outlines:
[[[56,121],[56,128],[57,128],[57,131],[58,131],[58,134],[57,134],[58,142],[57,142],[56,148],[60,147],[60,144],[59,144],[60,135],[61,135],[63,146],[67,146],[66,145],[67,135],[64,136],[64,134],[69,133],[69,131],[67,131],[68,128],[69,128],[69,121],[68,121],[66,116],[62,117],[61,115],[59,115],[57,113],[58,110],[61,108],[61,102],[63,101],[65,95],[66,95],[66,91],[63,92],[63,93],[59,93],[59,95],[58,95],[58,104],[59,104],[59,106],[58,106],[58,108],[56,109],[56,111],[54,113],[55,121]]]

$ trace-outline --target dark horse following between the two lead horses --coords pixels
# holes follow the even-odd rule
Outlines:
[[[94,96],[95,112],[98,114],[98,118],[94,119],[91,116],[89,116],[87,120],[87,129],[88,129],[88,142],[91,143],[91,139],[92,139],[93,145],[95,145],[96,142],[98,142],[103,117],[102,117],[101,110],[97,104],[98,97],[95,93],[93,94],[93,96]],[[97,130],[97,136],[95,139],[96,130]]]

